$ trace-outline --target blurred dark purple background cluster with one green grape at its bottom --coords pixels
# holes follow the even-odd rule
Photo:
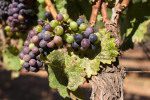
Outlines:
[[[7,32],[24,31],[35,16],[32,7],[26,4],[26,0],[12,0],[8,7],[8,18],[6,23]]]

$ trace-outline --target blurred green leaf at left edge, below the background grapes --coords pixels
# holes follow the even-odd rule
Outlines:
[[[13,47],[8,47],[3,51],[3,61],[5,68],[8,70],[18,71],[21,69],[18,50]]]

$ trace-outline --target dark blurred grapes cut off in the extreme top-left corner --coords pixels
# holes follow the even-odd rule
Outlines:
[[[0,0],[0,19],[6,20],[10,0]]]

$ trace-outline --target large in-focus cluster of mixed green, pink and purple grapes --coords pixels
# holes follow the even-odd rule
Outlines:
[[[56,20],[38,21],[38,25],[28,33],[19,56],[23,68],[38,71],[43,65],[41,55],[47,56],[52,50],[67,45],[73,50],[95,50],[97,41],[94,29],[88,27],[83,18],[75,22],[66,14],[58,14]]]

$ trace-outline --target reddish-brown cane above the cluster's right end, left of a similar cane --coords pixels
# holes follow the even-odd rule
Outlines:
[[[89,21],[91,26],[94,26],[94,24],[96,22],[101,2],[102,2],[102,0],[97,0],[94,2],[95,4],[93,3],[92,13],[91,13],[90,21]]]

